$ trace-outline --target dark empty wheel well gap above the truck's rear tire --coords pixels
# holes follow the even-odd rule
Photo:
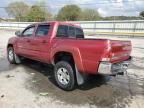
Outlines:
[[[58,52],[54,56],[54,63],[56,64],[59,61],[67,61],[68,63],[74,65],[74,58],[69,52]]]

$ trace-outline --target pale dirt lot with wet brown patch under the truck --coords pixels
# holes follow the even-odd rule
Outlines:
[[[13,35],[13,31],[0,30],[0,108],[143,108],[143,38],[118,38],[133,44],[127,74],[91,76],[85,85],[65,92],[55,85],[50,66],[31,60],[8,63],[6,43]]]

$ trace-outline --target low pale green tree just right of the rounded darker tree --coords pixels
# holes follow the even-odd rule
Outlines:
[[[95,21],[100,19],[100,14],[94,9],[84,9],[79,15],[79,20],[83,21]]]

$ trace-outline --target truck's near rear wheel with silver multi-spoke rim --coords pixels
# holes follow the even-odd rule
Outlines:
[[[54,76],[58,86],[66,91],[71,91],[75,88],[75,74],[72,66],[66,61],[56,63]]]

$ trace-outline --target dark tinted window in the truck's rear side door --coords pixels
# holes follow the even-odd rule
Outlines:
[[[39,25],[36,31],[36,36],[46,36],[49,32],[50,25]]]

